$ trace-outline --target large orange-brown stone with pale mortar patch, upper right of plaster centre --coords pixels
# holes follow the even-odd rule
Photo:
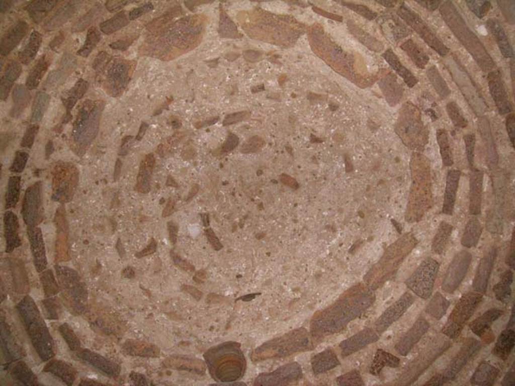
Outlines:
[[[307,31],[307,40],[313,53],[330,66],[336,73],[365,89],[372,86],[380,74],[369,73],[359,52],[345,51],[324,31],[319,23],[314,23]]]

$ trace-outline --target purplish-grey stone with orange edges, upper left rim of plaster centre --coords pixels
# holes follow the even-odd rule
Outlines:
[[[101,99],[84,99],[78,109],[72,129],[72,151],[82,157],[98,135],[100,117],[105,102]]]

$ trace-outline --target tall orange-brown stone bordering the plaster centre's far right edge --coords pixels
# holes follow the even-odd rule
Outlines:
[[[411,186],[406,204],[405,219],[407,222],[418,222],[433,207],[431,164],[423,154],[413,152],[411,153],[409,167]]]

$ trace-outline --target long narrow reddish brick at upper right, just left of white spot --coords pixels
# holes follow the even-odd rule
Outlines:
[[[456,39],[465,47],[474,58],[479,68],[488,73],[495,67],[495,63],[479,40],[476,34],[467,26],[463,16],[453,2],[447,0],[439,8],[440,15],[447,26],[454,33]]]

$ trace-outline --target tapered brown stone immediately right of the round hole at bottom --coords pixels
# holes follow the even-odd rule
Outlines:
[[[253,362],[257,362],[272,358],[285,358],[312,348],[309,332],[304,327],[300,327],[259,345],[252,351],[251,359]]]

